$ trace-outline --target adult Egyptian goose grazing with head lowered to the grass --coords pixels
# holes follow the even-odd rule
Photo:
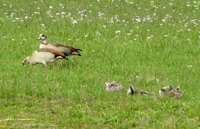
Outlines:
[[[22,64],[25,66],[28,63],[42,63],[45,65],[45,67],[47,67],[47,63],[49,62],[53,62],[53,65],[55,65],[54,61],[57,59],[57,57],[67,59],[66,56],[59,51],[50,48],[41,48],[34,51],[31,56],[26,57]]]

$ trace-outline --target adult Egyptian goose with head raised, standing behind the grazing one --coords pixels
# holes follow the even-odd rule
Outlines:
[[[52,48],[52,49],[62,52],[63,54],[65,54],[65,56],[69,56],[69,55],[81,56],[81,54],[79,53],[79,51],[82,51],[81,49],[77,49],[77,48],[67,46],[65,44],[60,44],[60,43],[48,44],[47,36],[45,36],[44,34],[40,34],[38,37],[38,40],[42,40],[42,43],[40,44],[40,48]]]

